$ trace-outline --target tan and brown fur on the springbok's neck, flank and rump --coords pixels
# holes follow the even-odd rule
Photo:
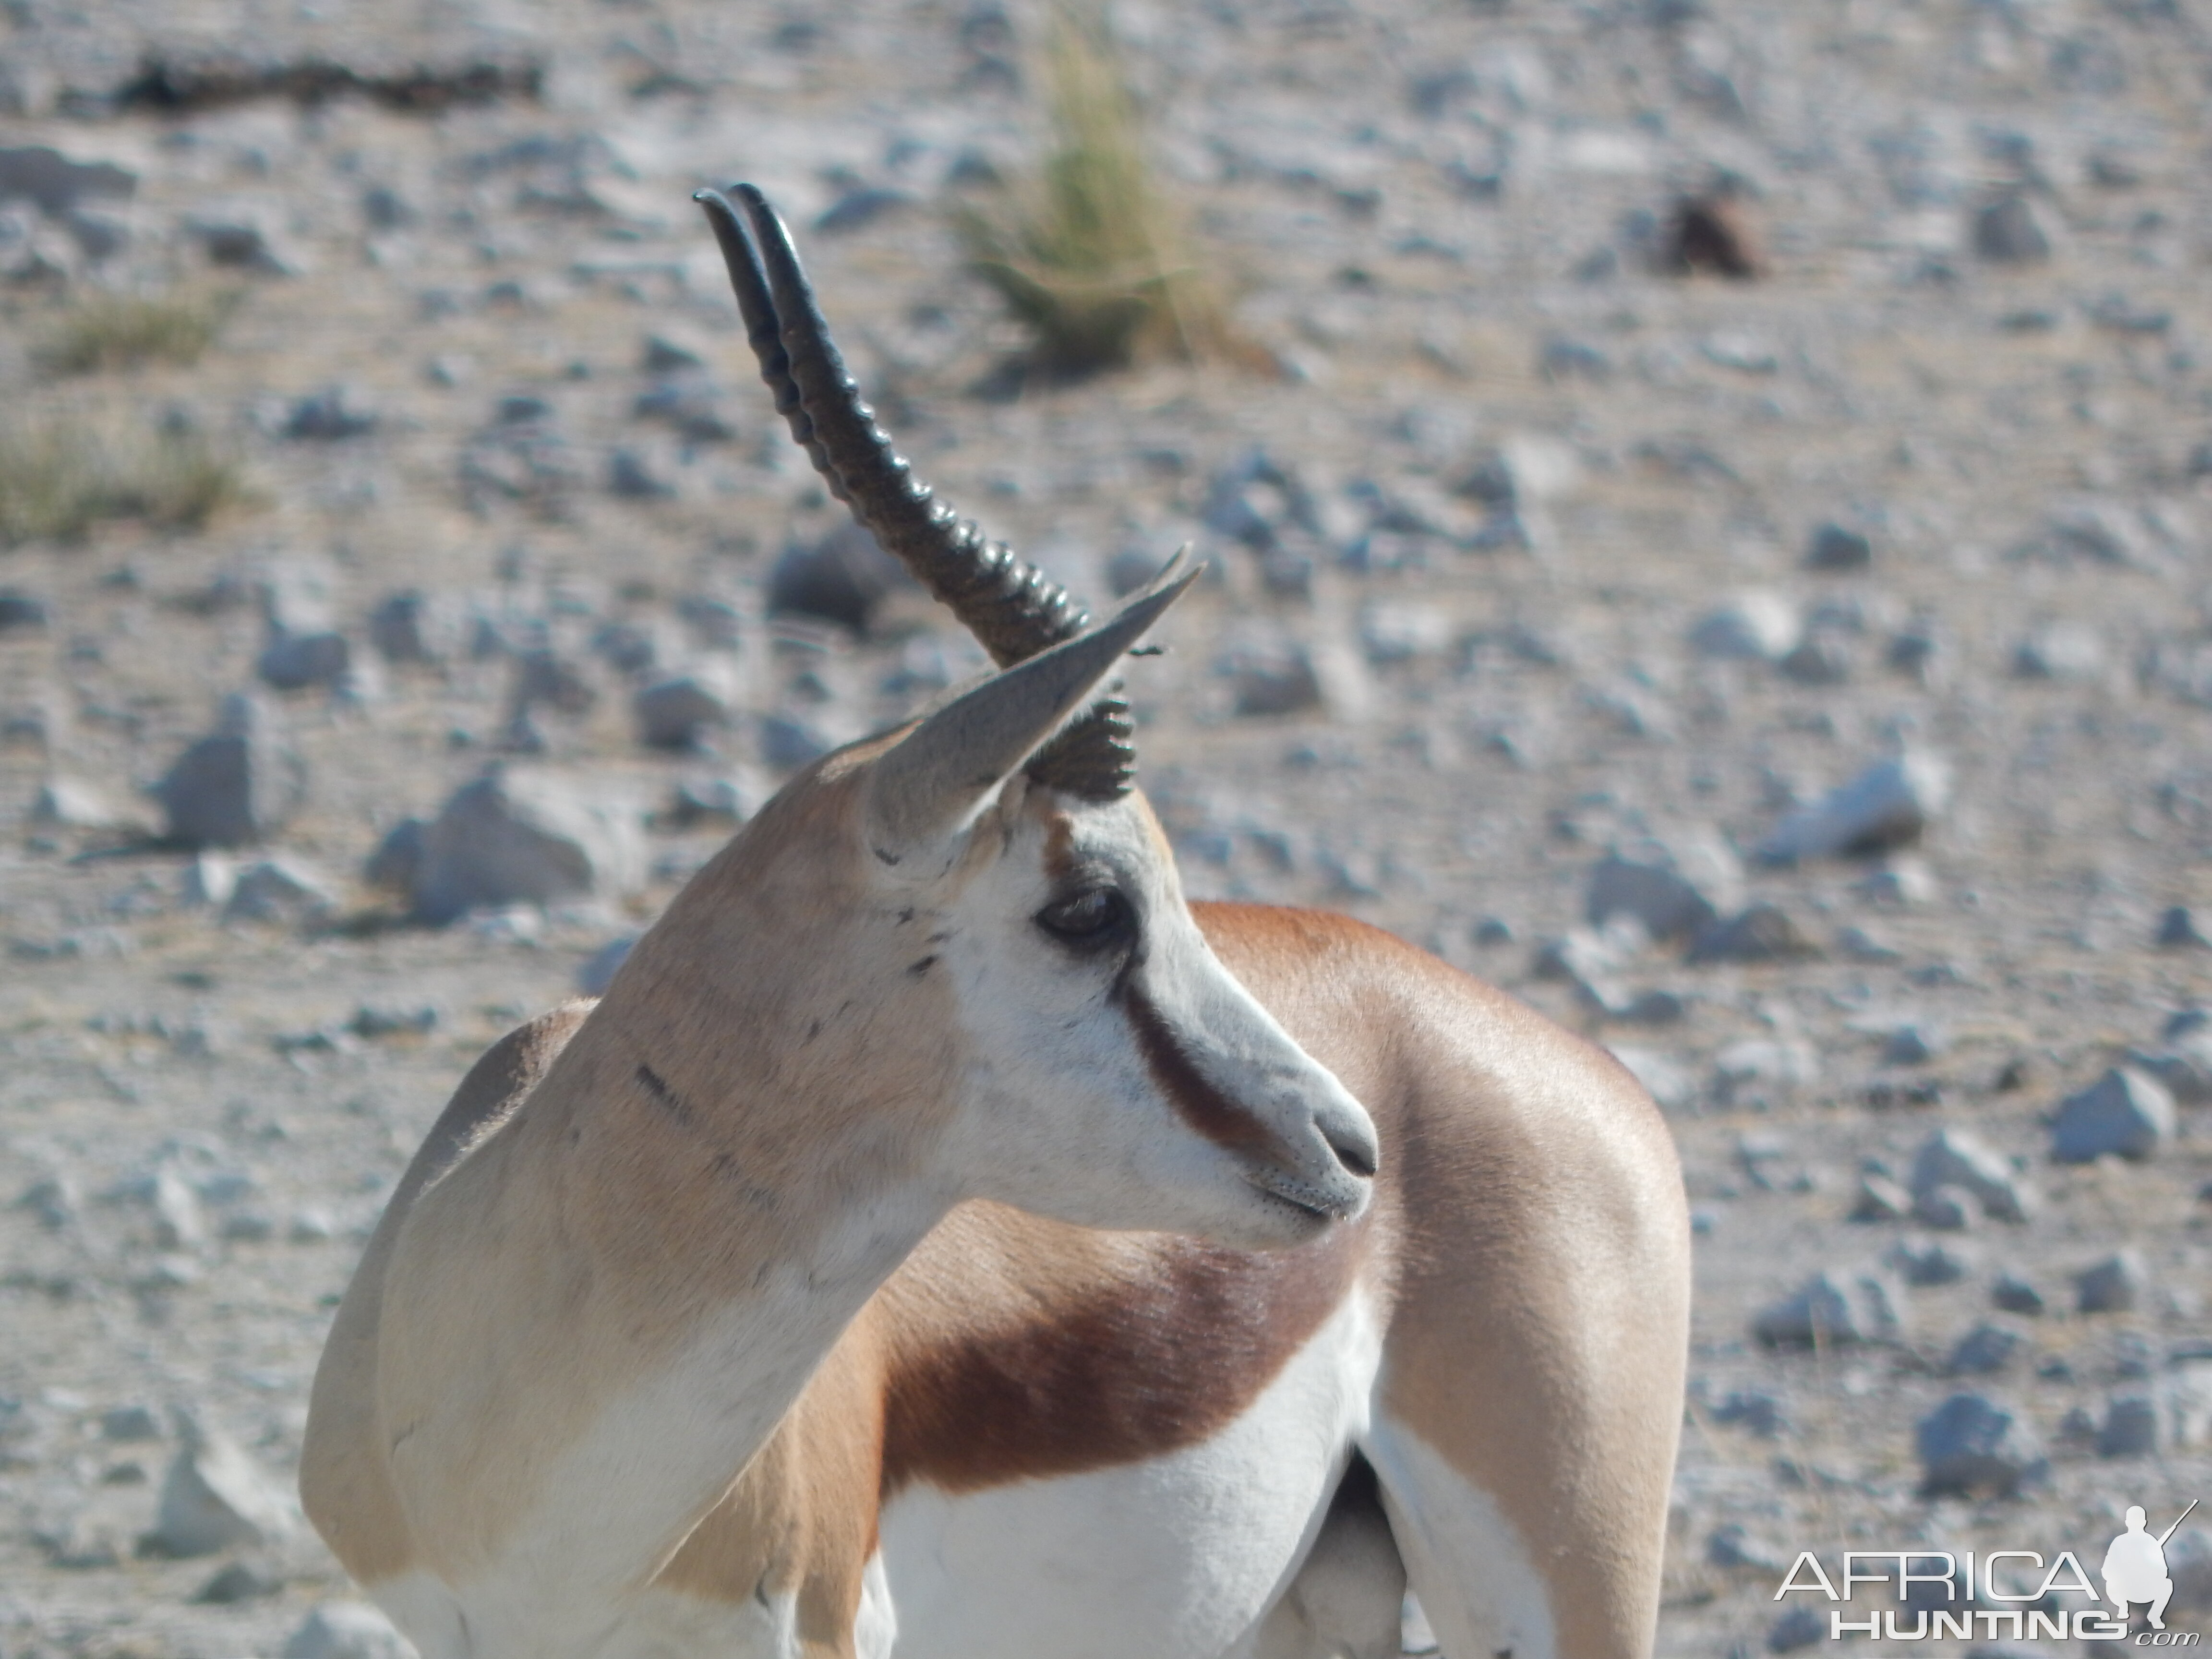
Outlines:
[[[865,759],[779,796],[591,1018],[555,1011],[478,1062],[416,1157],[338,1312],[303,1458],[307,1511],[363,1582],[476,1571],[641,1354],[743,1301],[852,1192],[896,1183],[956,1093],[927,938],[858,960],[821,925],[874,902],[805,856],[849,832]],[[1655,1108],[1610,1057],[1387,933],[1192,911],[1369,1108],[1367,1217],[1243,1254],[964,1203],[827,1343],[757,1455],[697,1471],[644,1577],[796,1595],[805,1650],[845,1657],[900,1486],[1194,1444],[1363,1283],[1387,1321],[1383,1407],[1526,1540],[1559,1652],[1648,1652],[1688,1327]],[[743,956],[734,927],[785,945],[776,971],[708,982],[703,964]]]

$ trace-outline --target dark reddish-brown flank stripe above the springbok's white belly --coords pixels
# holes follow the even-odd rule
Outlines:
[[[1082,1301],[1024,1301],[940,1327],[889,1369],[883,1498],[922,1480],[982,1491],[1159,1458],[1221,1431],[1343,1301],[1358,1228],[1243,1254],[1161,1239],[1148,1272]]]

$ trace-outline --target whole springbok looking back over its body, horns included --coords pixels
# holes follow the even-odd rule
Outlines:
[[[794,436],[1002,672],[794,779],[462,1079],[301,1491],[427,1659],[1652,1646],[1688,1225],[1599,1048],[1376,929],[1188,905],[1088,628],[701,192]]]

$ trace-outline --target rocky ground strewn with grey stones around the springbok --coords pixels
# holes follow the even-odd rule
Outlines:
[[[1197,894],[1398,929],[1668,1108],[1661,1652],[1825,1644],[1798,1551],[2095,1571],[2212,1498],[2199,0],[1121,4],[1285,378],[1060,387],[945,219],[1037,155],[1031,11],[396,18],[0,22],[4,420],[248,489],[0,551],[0,1652],[380,1650],[283,1491],[416,1139],[980,664],[741,363],[686,201],[732,177],[951,500],[1093,599],[1214,560],[1133,675]],[[325,69],[142,73],[248,42]],[[1756,279],[1666,270],[1686,197]],[[42,367],[117,292],[234,305],[190,367]],[[456,863],[493,821],[535,852]]]

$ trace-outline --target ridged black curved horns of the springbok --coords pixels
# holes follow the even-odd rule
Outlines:
[[[743,219],[719,190],[699,190],[692,201],[706,208],[714,228],[745,341],[776,398],[776,414],[830,493],[951,608],[1000,666],[1082,633],[1091,617],[1066,588],[1004,542],[989,540],[914,476],[845,372],[776,210],[750,184],[732,186],[732,195],[745,208]],[[1128,703],[1106,697],[1037,754],[1031,776],[1088,799],[1128,794],[1137,772],[1133,737]]]

